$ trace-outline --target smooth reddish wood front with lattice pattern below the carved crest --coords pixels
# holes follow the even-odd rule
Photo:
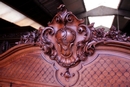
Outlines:
[[[116,44],[97,46],[94,55],[89,56],[76,67],[70,68],[70,73],[75,75],[68,82],[61,75],[61,72],[64,73],[66,69],[44,55],[40,47],[31,44],[27,47],[27,44],[24,44],[10,50],[4,55],[12,51],[13,53],[2,56],[0,61],[0,86],[2,87],[65,85],[67,87],[68,83],[72,87],[130,86],[130,48],[128,47],[117,47]]]

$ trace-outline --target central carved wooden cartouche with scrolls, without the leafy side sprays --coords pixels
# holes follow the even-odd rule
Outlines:
[[[58,9],[59,13],[42,30],[41,47],[52,60],[69,68],[86,59],[85,44],[91,33],[83,24],[84,21],[68,12],[64,5],[60,5]]]

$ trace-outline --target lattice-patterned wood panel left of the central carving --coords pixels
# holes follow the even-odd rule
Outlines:
[[[39,50],[35,49],[35,52],[34,49],[19,51],[16,55],[11,55],[11,58],[6,58],[6,61],[0,61],[2,64],[0,66],[0,81],[21,83],[21,86],[19,86],[20,84],[12,84],[14,85],[12,87],[32,87],[26,86],[28,84],[46,85],[45,87],[59,86],[52,66],[44,60]]]

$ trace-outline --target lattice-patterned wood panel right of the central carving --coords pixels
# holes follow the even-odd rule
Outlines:
[[[130,60],[114,55],[99,55],[81,72],[78,87],[129,87]]]

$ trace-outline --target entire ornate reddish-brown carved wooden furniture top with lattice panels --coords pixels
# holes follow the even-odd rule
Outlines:
[[[85,25],[64,5],[0,55],[2,87],[129,87],[130,36]]]

